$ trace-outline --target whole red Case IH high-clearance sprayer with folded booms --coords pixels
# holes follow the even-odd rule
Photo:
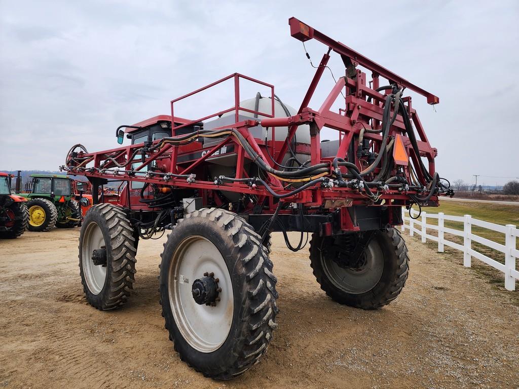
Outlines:
[[[394,228],[402,208],[437,206],[440,195],[453,195],[404,92],[429,104],[438,97],[295,18],[289,24],[296,39],[326,46],[299,109],[285,105],[274,86],[235,73],[172,100],[171,115],[120,126],[118,143],[126,128],[130,145],[95,152],[75,145],[62,166],[92,184],[94,205],[79,238],[88,302],[100,310],[125,304],[139,240],[170,231],[160,264],[162,316],[182,360],[215,379],[251,368],[272,340],[272,232],[283,233],[293,251],[311,233],[310,264],[325,293],[378,309],[407,279],[407,248]],[[312,109],[332,51],[344,76]],[[234,107],[195,119],[175,114],[179,101],[226,80],[234,84]],[[242,80],[268,94],[240,101]],[[324,129],[335,138],[321,141]],[[111,181],[123,182],[116,204],[103,198]],[[288,231],[301,233],[298,244]]]

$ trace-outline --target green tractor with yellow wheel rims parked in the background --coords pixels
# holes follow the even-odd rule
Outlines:
[[[32,174],[31,178],[26,193],[20,193],[29,200],[29,231],[77,227],[81,214],[73,199],[72,179],[59,174]]]

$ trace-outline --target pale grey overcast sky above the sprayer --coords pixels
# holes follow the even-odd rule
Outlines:
[[[113,148],[119,124],[170,114],[170,100],[234,72],[298,107],[314,70],[291,16],[440,97],[413,107],[443,177],[519,177],[518,1],[0,0],[0,169],[57,170],[75,143]],[[319,63],[325,47],[306,46]],[[325,73],[310,107],[333,85]],[[179,115],[232,106],[224,92]]]

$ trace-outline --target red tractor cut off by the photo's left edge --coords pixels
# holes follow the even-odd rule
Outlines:
[[[12,176],[0,172],[0,238],[20,237],[27,229],[27,199],[11,193]]]

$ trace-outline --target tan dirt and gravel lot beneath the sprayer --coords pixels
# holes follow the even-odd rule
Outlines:
[[[180,361],[163,328],[156,276],[165,238],[140,243],[126,307],[100,312],[83,297],[78,233],[0,241],[0,387],[519,387],[519,308],[412,238],[400,297],[362,311],[327,298],[307,251],[275,237],[279,327],[258,366],[216,382]]]

